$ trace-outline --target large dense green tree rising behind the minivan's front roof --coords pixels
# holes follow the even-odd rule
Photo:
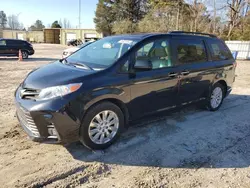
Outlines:
[[[96,29],[104,35],[136,32],[148,6],[148,0],[99,0],[94,18]]]

